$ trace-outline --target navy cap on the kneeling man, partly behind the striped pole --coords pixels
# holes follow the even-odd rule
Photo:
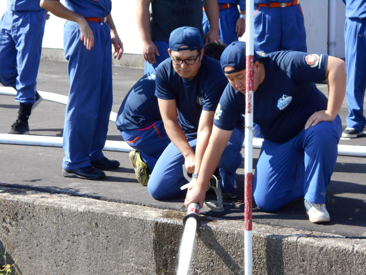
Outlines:
[[[226,66],[234,67],[234,70],[224,73],[235,73],[245,70],[246,66],[246,43],[244,41],[235,41],[228,45],[220,57],[221,68]],[[254,62],[259,58],[267,56],[264,52],[254,51]]]

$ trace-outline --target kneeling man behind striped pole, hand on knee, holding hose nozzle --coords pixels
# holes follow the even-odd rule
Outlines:
[[[232,120],[245,110],[245,42],[229,45],[221,67],[229,84],[220,99],[197,183],[185,204],[202,206],[205,188],[229,140]],[[253,178],[254,200],[275,211],[303,197],[310,221],[328,222],[325,192],[333,173],[342,125],[338,112],[346,92],[346,66],[328,55],[279,51],[254,54],[253,121],[264,142]],[[314,81],[328,79],[328,99]]]

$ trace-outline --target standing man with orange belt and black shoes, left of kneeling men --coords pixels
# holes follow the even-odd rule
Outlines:
[[[102,179],[104,169],[119,162],[104,157],[112,109],[112,60],[123,54],[123,44],[111,16],[111,0],[41,0],[41,7],[68,19],[64,49],[68,60],[70,92],[66,106],[62,174]],[[99,170],[100,169],[100,170]]]

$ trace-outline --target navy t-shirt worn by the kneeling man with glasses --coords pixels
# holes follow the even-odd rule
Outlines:
[[[160,99],[175,99],[178,122],[187,137],[197,137],[201,111],[215,111],[228,80],[220,62],[203,55],[201,66],[191,80],[175,72],[167,58],[156,69],[156,92]]]

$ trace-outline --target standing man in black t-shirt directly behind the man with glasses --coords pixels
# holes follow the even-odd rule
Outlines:
[[[212,26],[206,37],[202,29],[202,0],[137,0],[137,25],[142,39],[145,73],[155,69],[169,57],[169,35],[178,27],[191,26],[199,29],[202,41],[204,40],[203,44],[219,40],[217,0],[203,0],[203,2]]]

